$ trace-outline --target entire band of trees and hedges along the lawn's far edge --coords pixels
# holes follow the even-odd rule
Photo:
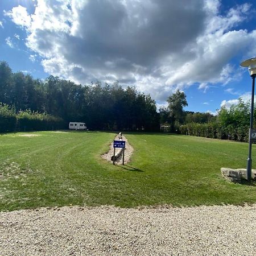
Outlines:
[[[177,90],[167,104],[158,112],[155,100],[135,87],[81,85],[54,76],[39,80],[0,62],[0,132],[67,129],[69,122],[78,121],[92,130],[159,131],[162,124],[172,133],[248,140],[250,102],[240,99],[217,116],[188,112],[183,109],[186,95]]]

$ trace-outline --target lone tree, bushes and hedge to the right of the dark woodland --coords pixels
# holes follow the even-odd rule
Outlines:
[[[170,124],[171,131],[207,138],[249,140],[250,101],[244,102],[240,98],[238,104],[230,108],[222,106],[216,116],[210,113],[185,112],[183,107],[187,106],[186,96],[179,90],[167,102],[168,107],[160,109],[160,121]]]

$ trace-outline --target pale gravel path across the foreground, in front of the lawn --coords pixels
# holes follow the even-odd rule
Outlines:
[[[0,255],[255,255],[256,204],[0,213]]]

